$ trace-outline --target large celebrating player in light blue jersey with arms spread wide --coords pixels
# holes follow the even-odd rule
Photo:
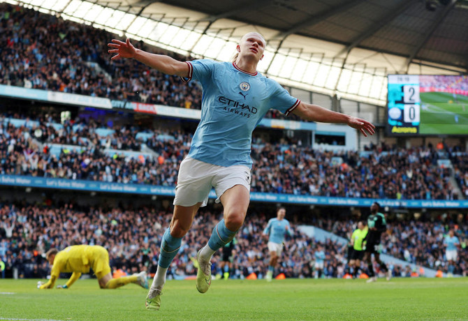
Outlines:
[[[203,89],[200,124],[193,135],[189,155],[180,164],[174,214],[161,242],[158,268],[146,299],[148,309],[159,310],[170,262],[177,255],[193,217],[207,204],[208,194],[214,187],[216,202],[224,207],[224,218],[197,253],[196,288],[204,293],[210,287],[213,253],[231,241],[244,223],[250,202],[251,135],[270,108],[286,115],[292,112],[309,121],[347,124],[365,136],[374,134],[374,126],[369,121],[302,103],[275,80],[258,73],[257,65],[263,58],[265,45],[261,34],[250,32],[235,48],[237,53],[232,62],[208,59],[182,62],[138,50],[129,39],[126,42],[112,39],[108,44],[108,52],[115,54],[112,60],[136,59],[161,73],[178,75],[185,82],[196,79]]]

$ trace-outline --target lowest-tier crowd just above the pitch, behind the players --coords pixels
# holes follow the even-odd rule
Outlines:
[[[170,268],[170,278],[183,278],[196,273],[193,257],[210,237],[218,214],[202,211],[193,221],[190,232],[183,239],[179,255]],[[170,223],[169,211],[154,208],[104,209],[78,208],[72,203],[59,207],[51,205],[17,205],[3,202],[0,207],[0,258],[6,264],[5,275],[20,278],[43,278],[47,262],[41,254],[49,248],[65,248],[73,244],[101,245],[108,249],[110,265],[128,274],[146,270],[154,273],[159,257],[161,235]],[[256,273],[260,278],[268,267],[267,239],[262,232],[268,219],[265,214],[249,214],[236,235],[231,255],[231,278],[245,278]],[[314,225],[346,237],[353,230],[351,221],[316,219]],[[442,241],[449,227],[455,227],[462,249],[455,274],[466,275],[467,225],[444,225],[409,221],[392,223],[383,237],[383,253],[424,267],[446,269]],[[277,273],[287,277],[318,276],[314,271],[314,253],[323,248],[326,253],[323,277],[342,278],[346,267],[346,246],[328,239],[316,241],[293,226],[293,237],[285,242],[285,251]],[[221,252],[221,251],[219,251]],[[221,253],[214,256],[212,271],[221,274]],[[362,265],[363,272],[367,267]],[[411,269],[392,266],[394,276],[410,276]],[[15,271],[15,272],[14,272]]]

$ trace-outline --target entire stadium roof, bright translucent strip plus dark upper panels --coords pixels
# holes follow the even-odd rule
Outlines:
[[[468,72],[468,0],[3,1],[219,60],[258,31],[268,42],[261,72],[376,105],[388,74]]]

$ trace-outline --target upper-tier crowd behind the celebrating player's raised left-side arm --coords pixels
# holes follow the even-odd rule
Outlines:
[[[0,3],[0,84],[62,91],[138,103],[201,108],[197,82],[182,82],[129,59],[110,61],[107,43],[115,34],[21,6]],[[82,37],[83,34],[88,35]],[[174,52],[136,45],[180,61]],[[234,52],[234,48],[233,48]],[[270,111],[268,118],[285,118]],[[288,119],[298,119],[291,115]]]

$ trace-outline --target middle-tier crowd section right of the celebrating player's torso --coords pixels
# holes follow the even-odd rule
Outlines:
[[[373,147],[368,153],[320,151],[265,144],[256,160],[252,191],[341,197],[453,200],[451,171],[437,166],[430,148]]]

